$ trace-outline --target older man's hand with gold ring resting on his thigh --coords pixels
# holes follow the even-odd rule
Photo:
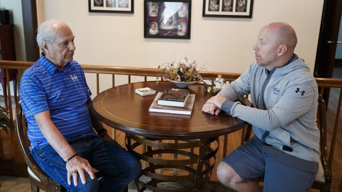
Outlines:
[[[73,159],[68,161],[66,163],[66,169],[68,171],[68,184],[71,185],[71,177],[73,177],[74,180],[74,186],[78,185],[78,175],[81,178],[81,181],[83,184],[86,184],[86,177],[84,176],[84,172],[88,173],[91,179],[94,179],[94,173],[93,170],[89,164],[89,162],[86,159],[83,159],[82,157],[76,155]],[[77,170],[78,173],[71,176],[71,171]]]

